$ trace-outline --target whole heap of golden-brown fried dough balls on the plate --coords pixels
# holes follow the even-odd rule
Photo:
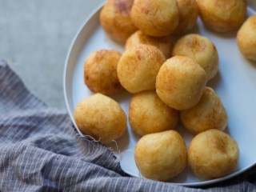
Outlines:
[[[223,132],[228,114],[206,86],[218,72],[218,50],[189,33],[198,16],[214,32],[238,30],[239,50],[256,61],[256,16],[245,21],[245,0],[108,0],[100,13],[102,28],[125,51],[96,50],[86,58],[84,81],[95,94],[78,103],[75,122],[83,134],[113,142],[127,119],[109,96],[133,94],[129,123],[142,136],[134,158],[145,178],[170,181],[187,164],[199,178],[221,178],[238,165],[238,144]],[[194,134],[188,149],[174,130],[179,121]]]

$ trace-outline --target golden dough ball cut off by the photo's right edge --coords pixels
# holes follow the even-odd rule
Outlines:
[[[256,61],[256,15],[247,18],[238,30],[238,48],[252,61]]]

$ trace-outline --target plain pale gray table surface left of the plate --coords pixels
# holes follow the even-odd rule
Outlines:
[[[82,22],[102,2],[0,0],[0,58],[49,106],[66,110],[66,54]]]

